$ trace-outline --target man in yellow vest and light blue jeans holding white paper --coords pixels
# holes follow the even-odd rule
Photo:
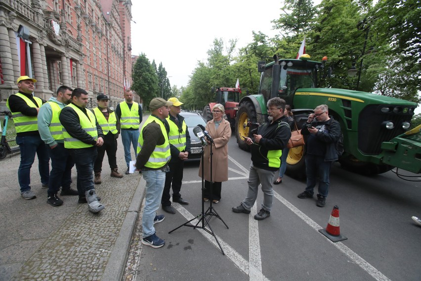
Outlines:
[[[124,157],[127,165],[126,175],[128,175],[128,165],[131,161],[130,145],[133,144],[134,153],[136,154],[139,127],[142,122],[142,107],[133,101],[133,92],[130,89],[124,92],[124,98],[125,101],[117,105],[116,115],[121,122]]]

